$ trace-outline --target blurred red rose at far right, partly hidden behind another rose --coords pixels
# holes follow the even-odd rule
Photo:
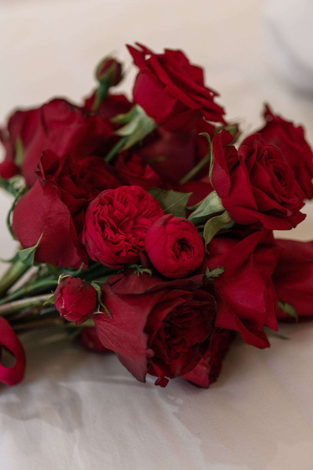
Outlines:
[[[313,198],[313,153],[305,141],[304,130],[300,125],[285,121],[265,106],[264,118],[267,124],[259,131],[267,144],[281,149],[287,162],[295,172],[296,180],[308,199]]]

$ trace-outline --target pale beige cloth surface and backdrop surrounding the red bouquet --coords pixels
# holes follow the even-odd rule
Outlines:
[[[275,71],[264,0],[0,0],[0,121],[12,108],[51,96],[81,102],[110,51],[130,67],[124,43],[182,48],[206,69],[229,118],[245,133],[272,104],[307,129],[313,102]],[[128,93],[131,70],[120,88]],[[0,193],[0,219],[11,199]],[[289,232],[313,238],[313,204]],[[15,250],[2,225],[0,257]],[[1,266],[2,270],[5,266]],[[22,384],[0,386],[0,468],[6,470],[311,470],[313,325],[285,325],[260,351],[237,339],[220,380],[200,390],[139,384],[115,357],[60,341],[33,347]]]

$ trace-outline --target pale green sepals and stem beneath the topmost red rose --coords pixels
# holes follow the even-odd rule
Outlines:
[[[154,119],[150,118],[139,104],[135,104],[128,113],[115,116],[111,121],[115,124],[125,125],[115,131],[115,135],[121,136],[121,139],[105,157],[107,163],[118,152],[129,149],[137,142],[142,141],[146,135],[158,127]]]

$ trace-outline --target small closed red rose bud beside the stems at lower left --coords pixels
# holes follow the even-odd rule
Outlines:
[[[54,305],[61,317],[84,323],[97,304],[97,291],[87,282],[76,277],[65,276],[54,292]]]

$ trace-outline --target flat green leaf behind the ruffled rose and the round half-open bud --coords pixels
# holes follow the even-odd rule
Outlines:
[[[186,205],[192,193],[179,193],[173,189],[166,191],[160,188],[150,188],[147,191],[159,202],[165,214],[186,217]]]

